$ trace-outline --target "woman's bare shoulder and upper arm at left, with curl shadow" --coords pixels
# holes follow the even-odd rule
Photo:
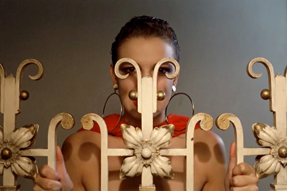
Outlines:
[[[89,181],[99,180],[100,133],[80,131],[70,135],[63,143],[62,153],[75,190],[99,188],[99,181]]]

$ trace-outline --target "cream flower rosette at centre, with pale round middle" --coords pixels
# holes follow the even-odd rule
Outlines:
[[[160,148],[167,147],[171,143],[174,125],[164,125],[156,127],[152,131],[151,139],[143,139],[141,129],[131,125],[122,124],[121,133],[124,144],[128,148],[134,149],[133,156],[125,158],[120,171],[120,179],[139,176],[143,167],[151,166],[154,176],[173,179],[173,171],[170,160],[161,156]]]

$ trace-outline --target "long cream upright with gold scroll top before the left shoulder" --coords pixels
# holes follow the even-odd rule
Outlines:
[[[119,72],[119,70],[118,70]],[[99,115],[90,113],[81,119],[83,129],[90,130],[94,126],[94,121],[98,123],[101,133],[101,190],[108,190],[108,129],[104,119]]]

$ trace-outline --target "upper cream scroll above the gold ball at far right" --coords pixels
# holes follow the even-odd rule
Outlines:
[[[259,62],[263,64],[266,67],[267,73],[268,73],[268,81],[269,81],[269,91],[271,92],[271,100],[269,102],[269,107],[270,111],[276,111],[276,97],[275,97],[275,92],[276,92],[276,86],[275,86],[275,74],[274,74],[274,69],[271,63],[265,59],[265,58],[254,58],[247,64],[247,74],[251,78],[259,78],[262,73],[256,74],[252,70],[252,66],[256,63]]]

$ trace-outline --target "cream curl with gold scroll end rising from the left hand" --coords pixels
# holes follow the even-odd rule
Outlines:
[[[71,129],[75,125],[73,116],[69,113],[60,113],[53,117],[48,130],[48,165],[56,169],[56,145],[57,145],[57,128],[59,123],[63,129]]]

